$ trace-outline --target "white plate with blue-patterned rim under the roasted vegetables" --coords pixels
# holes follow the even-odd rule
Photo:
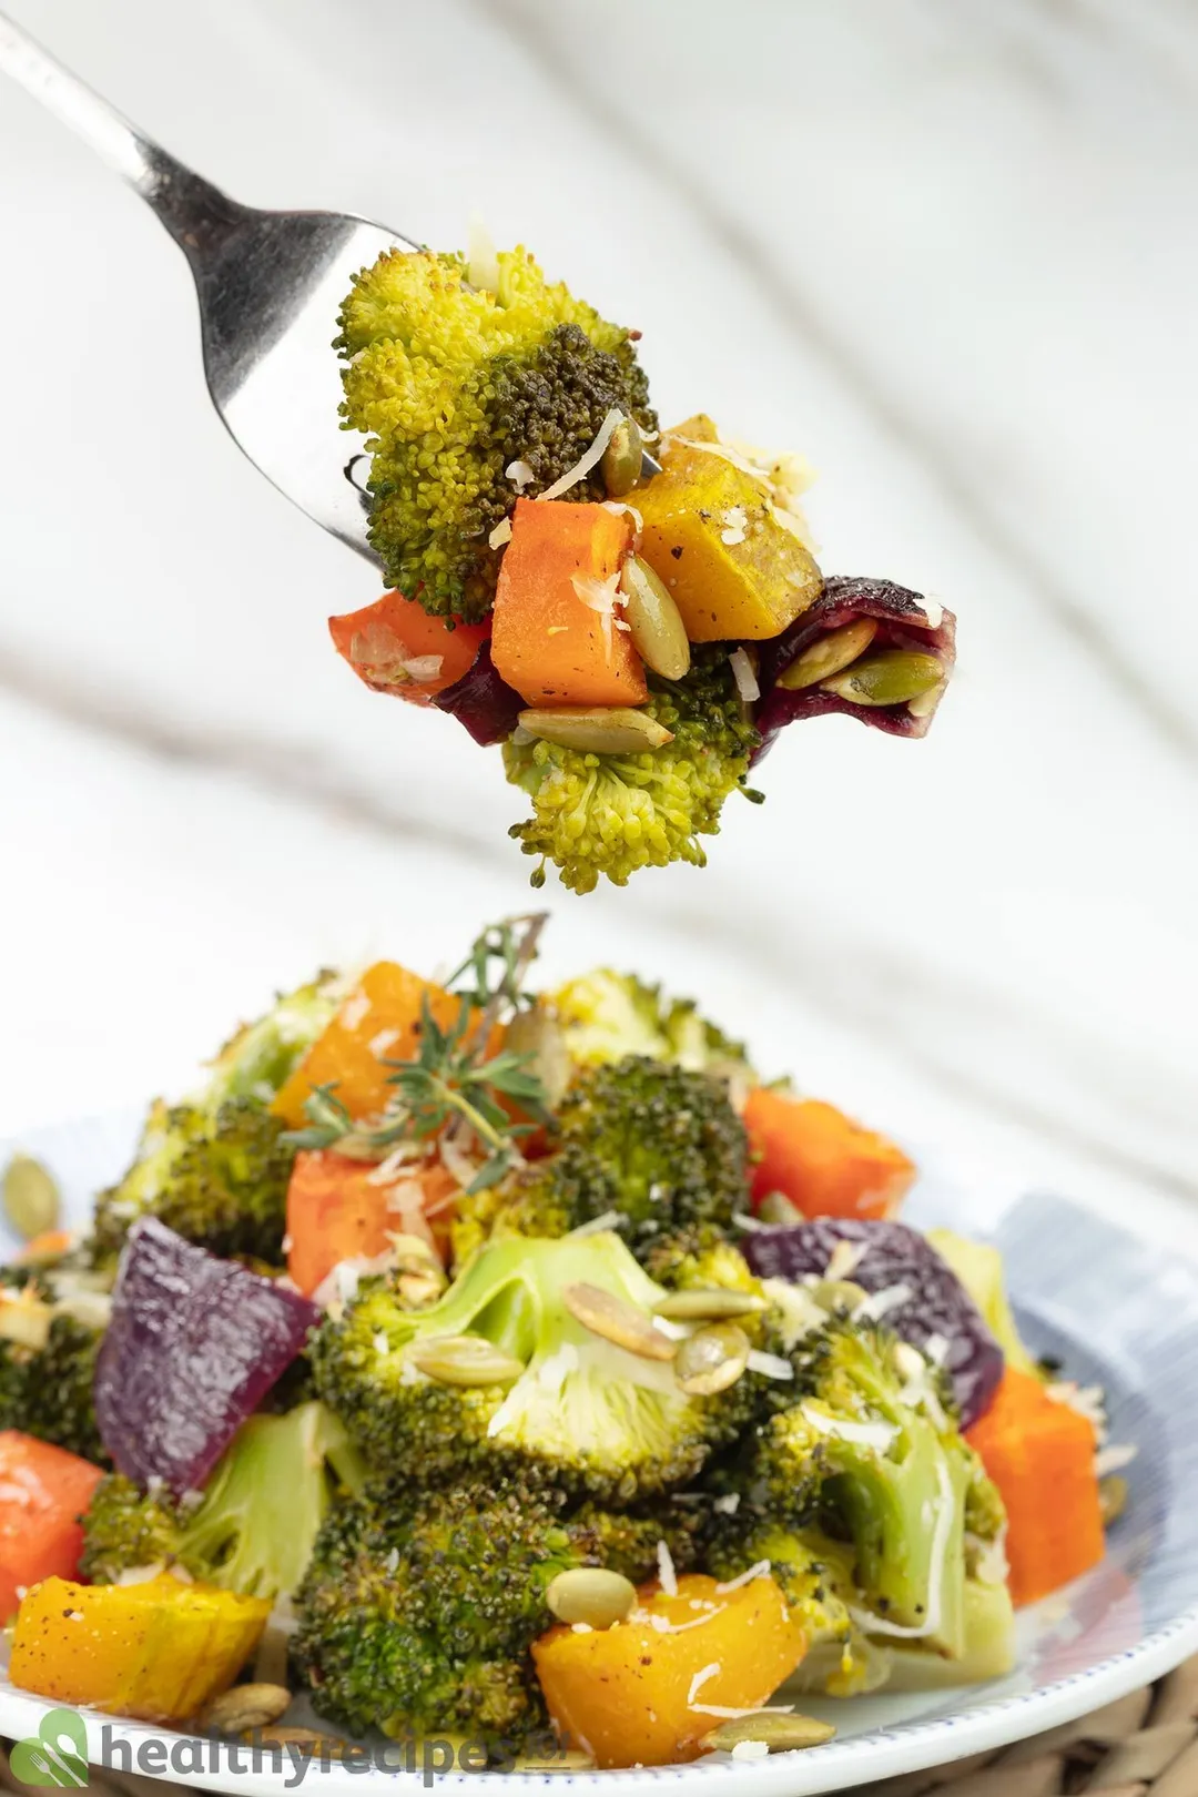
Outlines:
[[[43,1130],[22,1146],[54,1168],[70,1218],[83,1224],[90,1195],[120,1173],[133,1138],[135,1121],[120,1118]],[[1198,1651],[1198,1506],[1189,1497],[1198,1484],[1198,1267],[1065,1200],[966,1190],[945,1173],[921,1179],[909,1217],[997,1240],[1033,1348],[1061,1355],[1072,1377],[1106,1385],[1112,1439],[1133,1443],[1139,1456],[1128,1468],[1132,1500],[1103,1565],[1020,1616],[1018,1668],[1009,1678],[920,1696],[803,1698],[805,1711],[826,1714],[839,1732],[801,1754],[643,1772],[489,1775],[503,1777],[505,1790],[668,1784],[679,1797],[744,1797],[749,1788],[760,1797],[814,1797],[1040,1734]],[[0,1680],[2,1734],[32,1738],[52,1709]],[[237,1770],[226,1745],[90,1711],[83,1723],[95,1765],[126,1768],[129,1752],[133,1770],[203,1790],[266,1797],[296,1788],[295,1766]],[[436,1774],[436,1784],[478,1777]],[[366,1797],[418,1790],[424,1779],[377,1765],[348,1772],[316,1763],[302,1783],[325,1797]]]

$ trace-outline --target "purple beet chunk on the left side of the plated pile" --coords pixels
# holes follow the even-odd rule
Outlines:
[[[199,1492],[304,1346],[320,1312],[149,1217],[129,1231],[95,1368],[117,1468],[174,1497]]]

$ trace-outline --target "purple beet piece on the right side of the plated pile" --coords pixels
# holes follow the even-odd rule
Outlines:
[[[968,1429],[990,1407],[1002,1378],[1002,1350],[952,1267],[918,1229],[859,1217],[812,1217],[803,1224],[753,1231],[744,1251],[762,1279],[823,1278],[833,1249],[862,1249],[844,1278],[866,1292],[884,1292],[882,1321],[902,1341],[925,1350],[939,1337],[943,1366]]]

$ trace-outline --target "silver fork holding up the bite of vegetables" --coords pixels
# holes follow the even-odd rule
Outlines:
[[[233,442],[318,525],[375,561],[347,478],[361,438],[338,429],[330,350],[350,277],[415,244],[348,212],[242,207],[176,162],[0,13],[0,70],[48,106],[158,214],[199,297],[203,365]],[[63,221],[66,235],[70,225]]]

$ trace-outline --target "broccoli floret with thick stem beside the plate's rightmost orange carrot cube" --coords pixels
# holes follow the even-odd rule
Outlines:
[[[894,1353],[885,1332],[844,1317],[796,1344],[796,1384],[778,1387],[785,1409],[758,1432],[747,1490],[774,1524],[853,1544],[866,1633],[959,1657],[977,1463],[932,1384],[912,1391]]]

